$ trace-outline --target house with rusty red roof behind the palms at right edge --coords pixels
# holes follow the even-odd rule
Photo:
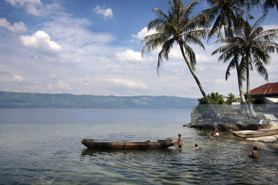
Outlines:
[[[278,82],[267,83],[250,91],[252,103],[268,111],[278,110]],[[244,94],[247,98],[247,93]]]

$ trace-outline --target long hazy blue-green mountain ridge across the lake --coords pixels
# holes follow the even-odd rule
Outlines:
[[[0,91],[0,108],[192,108],[195,98],[177,96],[92,96]]]

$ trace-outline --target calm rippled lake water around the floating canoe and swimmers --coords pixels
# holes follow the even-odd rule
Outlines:
[[[0,109],[0,184],[278,184],[278,143],[182,127],[188,109]],[[177,139],[183,150],[89,150],[100,141]],[[199,150],[192,150],[198,143]],[[261,157],[248,157],[252,146]]]

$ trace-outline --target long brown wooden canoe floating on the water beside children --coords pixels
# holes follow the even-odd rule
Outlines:
[[[174,146],[174,140],[158,140],[157,142],[122,142],[110,143],[99,142],[97,139],[83,139],[81,143],[92,149],[117,149],[117,150],[134,150],[134,149],[158,149]]]

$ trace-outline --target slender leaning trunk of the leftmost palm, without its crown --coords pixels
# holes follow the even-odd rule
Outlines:
[[[183,59],[186,60],[186,64],[187,64],[187,66],[188,66],[188,68],[189,68],[189,70],[190,70],[190,73],[192,74],[193,78],[194,78],[195,81],[197,82],[197,85],[198,85],[198,87],[199,87],[199,89],[200,89],[202,95],[204,96],[204,99],[206,100],[206,103],[208,103],[208,105],[211,107],[211,110],[212,110],[212,112],[213,112],[213,115],[214,115],[216,118],[218,118],[218,119],[222,118],[222,116],[219,114],[219,112],[218,112],[218,111],[215,109],[215,107],[211,104],[211,101],[208,100],[208,97],[206,96],[206,94],[205,94],[205,92],[204,92],[204,89],[203,89],[201,83],[199,82],[199,79],[197,78],[197,76],[196,76],[196,74],[195,74],[193,68],[191,67],[190,63],[188,62],[188,59],[186,58],[186,55],[185,55],[185,53],[184,53],[184,51],[183,51],[183,43],[179,42],[179,48],[181,49],[181,53],[182,53],[182,55],[183,55]]]

